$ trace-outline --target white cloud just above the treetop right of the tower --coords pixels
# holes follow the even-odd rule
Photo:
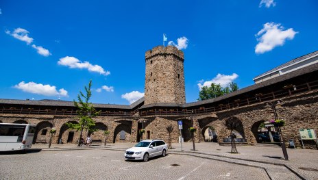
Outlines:
[[[220,84],[221,87],[225,88],[226,86],[229,85],[229,83],[234,81],[237,77],[238,75],[236,73],[233,73],[232,75],[221,75],[219,73],[217,74],[217,77],[214,77],[210,81],[204,81],[204,80],[199,81],[199,83],[197,83],[197,86],[199,87],[199,90],[201,90],[203,86],[209,87],[211,86],[211,83],[216,83],[216,84]]]

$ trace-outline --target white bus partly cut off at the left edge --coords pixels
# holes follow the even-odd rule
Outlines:
[[[0,123],[0,151],[31,148],[35,131],[35,125]]]

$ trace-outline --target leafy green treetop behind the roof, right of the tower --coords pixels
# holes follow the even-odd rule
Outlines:
[[[201,88],[199,92],[199,99],[197,100],[202,101],[206,99],[221,97],[224,94],[228,94],[236,90],[238,90],[238,86],[234,82],[230,83],[229,86],[225,88],[222,88],[220,84],[211,83],[210,87],[204,86]]]

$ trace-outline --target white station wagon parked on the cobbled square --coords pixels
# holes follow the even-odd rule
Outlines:
[[[126,159],[143,160],[147,162],[149,157],[157,155],[166,156],[168,146],[163,140],[143,140],[125,152]]]

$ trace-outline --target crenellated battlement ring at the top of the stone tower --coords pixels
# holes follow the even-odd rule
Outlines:
[[[149,60],[151,57],[157,56],[157,55],[175,55],[180,60],[184,60],[184,53],[178,48],[173,46],[158,46],[154,47],[153,49],[146,51],[145,59]]]

